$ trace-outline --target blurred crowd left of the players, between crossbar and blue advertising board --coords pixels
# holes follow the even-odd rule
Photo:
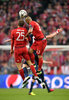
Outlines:
[[[0,50],[0,74],[17,74],[18,69],[15,64],[14,55],[10,56],[10,51]]]

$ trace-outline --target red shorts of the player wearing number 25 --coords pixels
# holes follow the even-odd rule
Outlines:
[[[21,63],[24,58],[26,61],[30,60],[27,47],[15,48],[14,50],[15,62]]]

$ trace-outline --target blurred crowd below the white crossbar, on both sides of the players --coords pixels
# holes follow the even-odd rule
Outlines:
[[[0,58],[0,74],[18,73],[14,55],[10,56],[9,50],[0,50]],[[43,59],[51,62],[43,64],[45,74],[69,74],[69,51],[45,51]]]

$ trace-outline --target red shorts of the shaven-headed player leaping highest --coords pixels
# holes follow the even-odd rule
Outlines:
[[[33,50],[35,50],[38,55],[43,55],[43,52],[44,52],[46,45],[47,45],[46,39],[45,40],[38,40],[32,44],[31,48]]]

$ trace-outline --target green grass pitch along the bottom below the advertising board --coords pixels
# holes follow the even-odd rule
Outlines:
[[[0,100],[69,100],[68,89],[56,89],[48,93],[46,89],[34,89],[35,96],[28,95],[28,89],[0,89]]]

